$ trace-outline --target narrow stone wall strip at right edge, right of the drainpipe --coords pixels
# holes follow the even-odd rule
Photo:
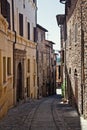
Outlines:
[[[87,1],[81,1],[82,7],[82,30],[83,30],[83,48],[84,48],[84,77],[83,77],[83,100],[84,117],[87,118]]]

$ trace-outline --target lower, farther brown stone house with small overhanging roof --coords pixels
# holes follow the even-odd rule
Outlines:
[[[48,95],[55,94],[56,91],[56,57],[53,50],[54,42],[45,40],[47,51],[47,92]]]

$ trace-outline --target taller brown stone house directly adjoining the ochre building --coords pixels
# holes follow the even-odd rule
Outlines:
[[[46,96],[46,52],[45,32],[47,30],[37,24],[37,82],[38,97]]]

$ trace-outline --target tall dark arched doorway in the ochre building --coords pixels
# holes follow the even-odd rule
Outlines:
[[[17,67],[17,101],[23,98],[22,91],[22,66],[19,63]]]

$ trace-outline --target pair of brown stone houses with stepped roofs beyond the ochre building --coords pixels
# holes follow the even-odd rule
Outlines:
[[[53,42],[45,39],[47,30],[37,24],[37,79],[38,96],[47,96],[54,93],[55,67]]]

